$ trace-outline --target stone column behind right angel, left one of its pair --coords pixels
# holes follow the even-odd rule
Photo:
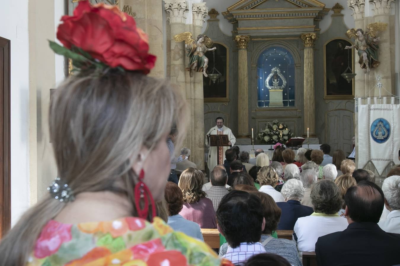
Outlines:
[[[364,9],[365,2],[364,0],[348,0],[347,6],[350,10],[353,11],[352,16],[355,23],[356,29],[364,29]],[[354,41],[354,40],[352,40]],[[368,82],[366,82],[366,74],[361,69],[360,64],[358,64],[358,54],[357,51],[354,51],[355,59],[354,59],[354,73],[356,73],[356,77],[354,77],[354,96],[365,97],[366,93],[370,91],[369,87],[369,77]],[[358,104],[361,104],[359,102]],[[354,136],[356,136],[356,154],[358,154],[358,113],[354,113]],[[356,156],[356,168],[358,168],[358,156]]]

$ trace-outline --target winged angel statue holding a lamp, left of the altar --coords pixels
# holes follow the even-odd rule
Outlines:
[[[213,51],[217,47],[207,35],[199,34],[197,41],[192,39],[191,32],[179,33],[174,36],[177,43],[185,41],[186,55],[189,57],[189,65],[186,71],[190,71],[190,77],[193,77],[193,71],[203,72],[204,77],[208,77],[206,70],[208,67],[208,58],[204,55],[206,51]]]

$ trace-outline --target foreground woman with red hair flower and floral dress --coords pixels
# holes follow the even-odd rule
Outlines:
[[[184,132],[187,119],[181,93],[145,75],[155,61],[146,34],[118,8],[88,1],[62,21],[64,47],[51,47],[80,72],[50,102],[58,177],[2,239],[0,265],[186,265],[199,256],[220,264],[156,217],[170,172],[168,133],[176,121]]]

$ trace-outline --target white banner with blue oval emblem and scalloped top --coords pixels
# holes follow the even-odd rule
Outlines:
[[[382,104],[374,98],[367,99],[367,104],[361,104],[358,98],[358,167],[364,168],[371,161],[379,174],[394,162],[399,163],[398,150],[400,148],[400,104]]]

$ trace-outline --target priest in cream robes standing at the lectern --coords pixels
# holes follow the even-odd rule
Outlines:
[[[208,130],[206,134],[206,146],[208,148],[208,168],[210,171],[214,169],[214,167],[218,164],[224,164],[225,161],[225,151],[228,150],[230,147],[235,145],[236,138],[232,134],[232,130],[224,126],[224,118],[217,117],[215,119],[216,126]],[[228,144],[230,147],[218,147],[219,150],[217,152],[217,147],[210,147],[208,144],[208,135],[228,135],[229,142]],[[217,154],[219,154],[219,158],[217,158]]]

